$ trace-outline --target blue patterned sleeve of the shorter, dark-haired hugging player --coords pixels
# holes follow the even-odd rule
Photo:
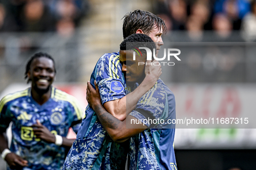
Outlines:
[[[159,121],[157,120],[162,118],[166,100],[166,93],[161,88],[154,86],[139,99],[135,110],[129,115],[135,117],[146,126],[151,127],[153,124],[158,124]]]

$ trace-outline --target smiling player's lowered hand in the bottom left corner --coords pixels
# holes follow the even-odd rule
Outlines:
[[[22,157],[14,154],[13,152],[6,154],[5,161],[12,170],[21,170],[23,167],[28,166],[28,161],[24,160]]]

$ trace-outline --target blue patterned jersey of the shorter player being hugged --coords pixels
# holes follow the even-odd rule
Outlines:
[[[130,139],[130,170],[177,170],[175,124],[168,121],[176,117],[172,91],[159,79],[129,115],[150,128]]]

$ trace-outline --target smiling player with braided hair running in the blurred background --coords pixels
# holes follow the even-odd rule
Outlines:
[[[31,87],[6,95],[0,102],[0,151],[11,169],[57,170],[74,139],[68,129],[78,131],[82,110],[76,99],[52,86],[56,69],[46,53],[32,56],[25,79]],[[12,122],[10,150],[6,129]]]

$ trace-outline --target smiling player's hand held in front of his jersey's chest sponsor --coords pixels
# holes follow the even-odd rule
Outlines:
[[[36,124],[32,125],[34,135],[36,135],[36,138],[40,138],[46,142],[55,143],[55,135],[52,134],[49,129],[47,129],[45,126],[43,126],[39,120],[36,120]]]

